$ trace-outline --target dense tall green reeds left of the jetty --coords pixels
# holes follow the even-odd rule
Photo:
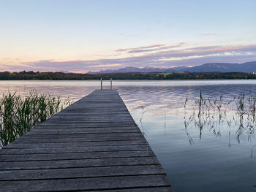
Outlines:
[[[69,104],[69,99],[50,94],[31,92],[25,97],[16,93],[4,94],[0,99],[1,147],[13,142],[37,123],[42,123]]]

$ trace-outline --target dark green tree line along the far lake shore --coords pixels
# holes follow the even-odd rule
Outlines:
[[[255,80],[256,74],[242,72],[171,72],[77,74],[62,72],[0,72],[0,80]]]

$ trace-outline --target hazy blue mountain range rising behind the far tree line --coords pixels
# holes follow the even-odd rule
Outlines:
[[[88,72],[88,74],[106,74],[106,73],[128,73],[128,72],[256,72],[256,61],[246,62],[243,64],[229,63],[209,63],[199,66],[177,66],[172,68],[156,68],[156,67],[124,67],[115,70],[102,70],[99,72]]]

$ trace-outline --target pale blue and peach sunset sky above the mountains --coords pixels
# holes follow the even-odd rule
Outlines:
[[[0,71],[256,61],[255,0],[0,0]]]

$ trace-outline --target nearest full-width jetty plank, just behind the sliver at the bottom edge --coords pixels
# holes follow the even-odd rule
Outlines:
[[[125,188],[169,187],[165,175],[95,177],[64,180],[0,181],[2,191],[90,191]]]

